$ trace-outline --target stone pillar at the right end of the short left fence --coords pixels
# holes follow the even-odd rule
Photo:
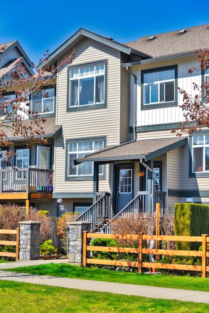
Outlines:
[[[40,221],[19,222],[19,260],[39,259]]]

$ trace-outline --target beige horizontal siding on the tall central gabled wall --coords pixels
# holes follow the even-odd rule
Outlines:
[[[56,122],[57,125],[62,125],[62,134],[56,139],[55,144],[54,192],[93,191],[92,180],[65,181],[65,167],[67,165],[65,164],[66,139],[106,136],[106,145],[120,143],[120,53],[87,38],[75,46],[74,51],[75,59],[72,65],[107,60],[107,107],[66,112],[67,66],[60,70],[57,79]],[[106,165],[106,179],[99,181],[99,191],[109,191],[107,173],[108,165]]]

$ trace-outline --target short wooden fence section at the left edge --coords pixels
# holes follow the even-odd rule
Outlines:
[[[15,257],[16,261],[19,258],[19,228],[16,229],[0,229],[0,234],[15,234],[16,235],[16,241],[14,240],[0,240],[0,245],[15,245],[16,246],[16,252],[1,252],[0,256],[10,256]]]

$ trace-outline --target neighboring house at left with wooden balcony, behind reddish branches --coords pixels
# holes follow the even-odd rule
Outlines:
[[[23,63],[26,73],[25,77],[30,77],[32,71],[32,63],[25,54],[17,41],[12,41],[0,44],[4,49],[0,53],[0,79],[13,79],[12,72],[15,71],[15,66],[20,61]],[[46,76],[48,73],[46,74]],[[28,85],[31,79],[28,81]],[[15,90],[18,84],[13,84],[9,87],[9,92],[4,92],[0,101],[16,97]],[[47,88],[48,96],[42,96],[41,92],[30,95],[28,99],[30,108],[46,118],[46,121],[41,126],[44,133],[41,137],[47,138],[48,143],[45,145],[35,145],[28,148],[25,138],[21,135],[13,136],[11,129],[6,126],[12,126],[11,121],[4,121],[1,126],[7,135],[7,139],[14,140],[14,146],[9,147],[12,150],[12,155],[9,164],[0,160],[0,203],[16,203],[26,207],[35,207],[39,209],[49,209],[51,215],[57,215],[56,200],[52,199],[53,191],[53,146],[54,139],[60,134],[61,126],[55,125],[55,87],[54,85]],[[22,103],[24,105],[24,103]],[[3,112],[1,111],[1,114]],[[29,119],[23,121],[24,124],[30,123]],[[40,135],[39,135],[40,136]],[[7,147],[2,148],[2,155]],[[16,168],[16,169],[14,169]]]

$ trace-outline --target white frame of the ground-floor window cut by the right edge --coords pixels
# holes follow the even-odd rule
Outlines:
[[[194,143],[194,139],[195,139],[195,143]],[[201,160],[200,165],[197,168],[194,168],[195,167],[195,152],[194,152],[195,149],[202,150],[201,151],[202,160]],[[208,159],[209,159],[209,134],[193,135],[192,136],[192,173],[209,172],[209,161],[208,161],[208,164],[205,164],[206,149],[208,150]]]

